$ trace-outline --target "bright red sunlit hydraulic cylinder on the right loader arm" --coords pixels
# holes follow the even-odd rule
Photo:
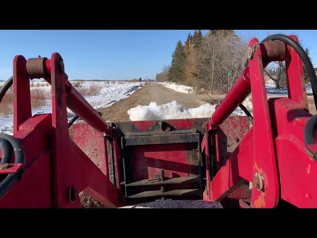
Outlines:
[[[246,67],[242,75],[237,79],[233,87],[221,101],[219,107],[211,116],[215,125],[221,124],[231,113],[245,100],[251,92],[250,70]]]

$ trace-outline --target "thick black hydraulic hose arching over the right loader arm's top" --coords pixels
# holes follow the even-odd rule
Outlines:
[[[314,96],[314,101],[315,101],[315,107],[317,109],[317,76],[315,74],[313,64],[312,64],[311,60],[309,59],[308,55],[306,54],[306,52],[304,51],[304,49],[300,46],[300,44],[298,44],[296,41],[294,41],[292,38],[290,38],[289,36],[286,36],[286,35],[282,35],[282,34],[271,35],[271,36],[266,37],[263,41],[261,41],[261,43],[263,43],[265,41],[269,41],[269,40],[282,41],[285,44],[292,47],[297,52],[297,54],[299,55],[299,57],[301,58],[301,60],[303,61],[304,65],[305,65],[309,79],[311,81],[313,96]]]

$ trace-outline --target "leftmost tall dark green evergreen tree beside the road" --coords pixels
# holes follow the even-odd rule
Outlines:
[[[172,82],[183,82],[186,64],[186,52],[181,41],[178,41],[172,54],[171,66],[167,73],[167,79]]]

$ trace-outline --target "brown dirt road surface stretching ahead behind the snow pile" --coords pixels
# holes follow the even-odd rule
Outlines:
[[[137,90],[130,97],[123,99],[111,107],[100,109],[104,119],[108,121],[128,121],[127,111],[138,105],[149,105],[151,102],[157,102],[158,105],[170,103],[174,100],[186,108],[197,108],[203,104],[215,104],[221,100],[224,95],[213,95],[212,100],[208,95],[185,94],[173,91],[157,83],[146,83],[144,87]]]

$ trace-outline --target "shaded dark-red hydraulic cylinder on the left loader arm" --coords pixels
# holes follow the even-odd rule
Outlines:
[[[98,112],[85,100],[85,98],[71,85],[68,80],[65,82],[65,86],[67,93],[67,107],[98,131],[109,134],[110,131],[108,130],[108,125]]]

